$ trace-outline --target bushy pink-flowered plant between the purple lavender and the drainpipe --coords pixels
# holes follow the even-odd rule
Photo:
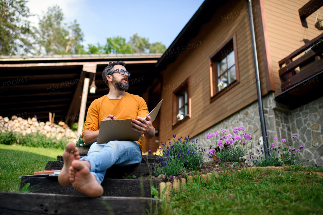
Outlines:
[[[234,128],[233,133],[235,133],[236,136],[233,136],[232,134],[226,135],[226,129],[221,130],[221,133],[224,134],[222,137],[219,137],[221,135],[218,132],[215,132],[215,134],[207,134],[206,139],[212,138],[211,143],[212,140],[213,143],[212,146],[208,148],[209,151],[206,153],[206,156],[209,158],[216,156],[221,162],[240,161],[252,148],[252,137],[250,133],[243,133],[244,130],[245,127],[243,126]],[[218,137],[219,140],[217,140]],[[248,143],[251,143],[251,146],[248,147]],[[214,145],[216,148],[214,148]]]

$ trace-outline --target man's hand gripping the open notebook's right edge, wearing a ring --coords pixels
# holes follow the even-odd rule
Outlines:
[[[144,135],[145,139],[151,139],[155,136],[155,128],[152,127],[151,117],[146,115],[147,120],[142,117],[137,117],[137,119],[132,119],[131,127],[132,130],[135,130]]]

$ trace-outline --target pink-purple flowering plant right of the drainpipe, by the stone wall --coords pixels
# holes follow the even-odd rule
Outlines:
[[[268,136],[266,137],[268,138]],[[296,141],[299,141],[297,139],[297,136],[293,136],[292,139]],[[269,138],[270,140],[270,138]],[[274,138],[274,140],[277,140],[277,137]],[[269,152],[269,157],[266,158],[264,156],[264,151],[266,154],[266,149],[263,150],[261,148],[261,151],[257,149],[257,151],[262,153],[262,156],[260,156],[260,159],[258,157],[254,157],[252,155],[249,156],[250,160],[253,162],[254,165],[258,165],[261,167],[266,167],[266,166],[276,166],[276,165],[300,165],[301,163],[306,162],[305,160],[301,159],[299,157],[299,151],[304,148],[304,146],[299,146],[297,149],[292,148],[291,144],[288,147],[287,139],[283,138],[281,139],[282,144],[285,144],[285,147],[281,147],[280,145],[277,144],[277,147],[275,147],[274,142],[272,142],[271,147],[269,147],[268,152]],[[270,140],[271,142],[271,140]],[[294,144],[294,145],[295,145]],[[248,160],[249,161],[249,160]]]

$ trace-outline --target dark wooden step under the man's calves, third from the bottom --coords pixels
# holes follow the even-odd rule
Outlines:
[[[47,161],[45,170],[62,169],[63,164],[64,164],[63,161]],[[148,163],[139,163],[139,164],[134,164],[126,167],[119,167],[119,166],[113,165],[112,167],[107,169],[107,172],[104,178],[122,179],[122,176],[135,175],[136,177],[142,176],[144,177],[144,179],[147,179],[150,175],[156,176],[154,172],[151,171],[151,168],[148,165],[149,165]]]

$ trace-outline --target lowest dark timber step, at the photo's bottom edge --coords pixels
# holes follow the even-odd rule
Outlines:
[[[161,203],[161,200],[143,197],[90,198],[60,194],[7,192],[1,193],[0,196],[0,214],[4,215],[139,215],[147,214],[147,210],[154,213]]]

